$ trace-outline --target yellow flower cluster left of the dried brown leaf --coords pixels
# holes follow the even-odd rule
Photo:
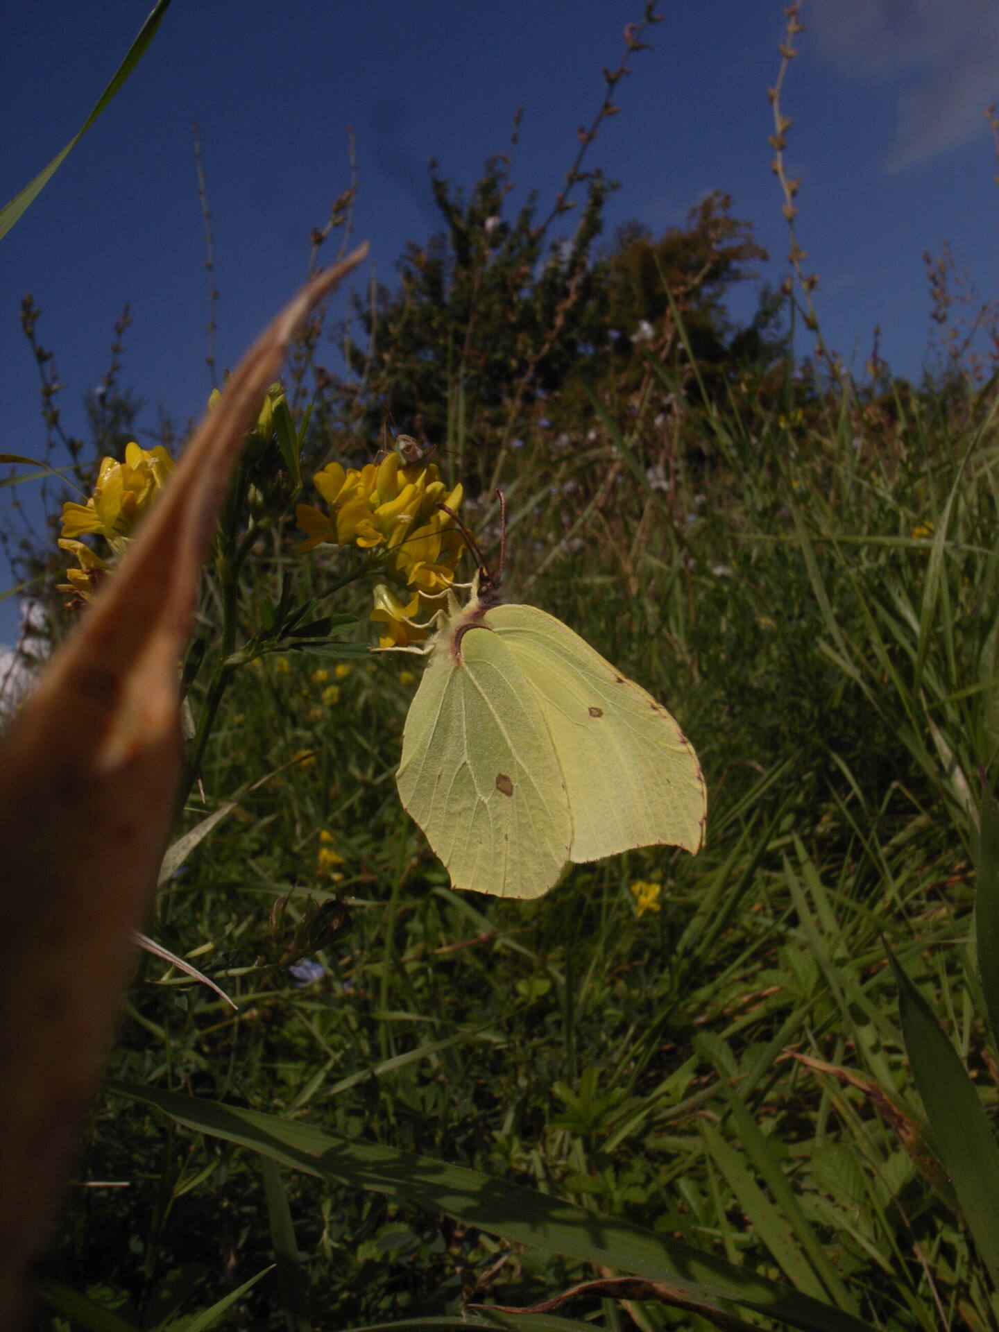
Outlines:
[[[128,545],[136,522],[163,490],[173,472],[173,458],[161,444],[155,449],[125,445],[125,461],[104,458],[97,474],[97,485],[87,503],[67,501],[63,505],[63,534],[60,549],[68,550],[79,562],[79,569],[67,569],[68,583],[60,591],[69,591],[81,601],[89,601],[93,590],[112,565],[80,537],[104,537],[115,555]]]

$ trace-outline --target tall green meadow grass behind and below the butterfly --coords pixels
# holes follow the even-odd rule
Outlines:
[[[996,745],[995,390],[944,412],[852,390],[763,409],[755,388],[665,421],[665,466],[606,410],[557,449],[538,428],[509,488],[511,595],[611,655],[698,746],[701,855],[581,866],[537,903],[452,892],[392,781],[412,659],[353,658],[324,702],[330,661],[265,657],[233,682],[189,819],[244,794],[151,927],[240,1012],[147,960],[111,1076],[519,1180],[874,1324],[990,1327],[883,940],[991,1104],[968,927]],[[248,566],[248,603],[288,571],[272,550]],[[294,577],[306,593],[326,575]],[[662,884],[641,918],[638,880]],[[292,926],[334,888],[353,928],[296,990]],[[145,1327],[272,1261],[233,1305],[241,1325],[529,1304],[593,1276],[404,1197],[261,1167],[116,1095],[79,1177],[44,1288]],[[699,1324],[602,1299],[570,1312]]]

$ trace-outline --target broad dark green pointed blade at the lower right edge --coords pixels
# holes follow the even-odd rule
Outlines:
[[[999,1285],[999,1147],[950,1038],[890,948],[888,959],[899,987],[912,1080],[964,1220]]]

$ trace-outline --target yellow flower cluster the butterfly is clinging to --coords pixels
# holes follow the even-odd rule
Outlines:
[[[329,514],[298,505],[298,527],[308,537],[298,549],[330,542],[382,553],[388,578],[405,591],[398,595],[388,583],[374,589],[372,619],[381,626],[380,646],[408,647],[426,638],[426,629],[413,619],[437,610],[440,594],[454,582],[464,541],[454,518],[440,506],[457,509],[461,486],[448,492],[436,464],[408,466],[398,453],[360,470],[330,462],[314,481]]]

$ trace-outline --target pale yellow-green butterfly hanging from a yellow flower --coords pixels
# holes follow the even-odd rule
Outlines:
[[[484,569],[448,601],[396,782],[453,887],[538,898],[569,862],[699,850],[701,765],[661,703]]]

